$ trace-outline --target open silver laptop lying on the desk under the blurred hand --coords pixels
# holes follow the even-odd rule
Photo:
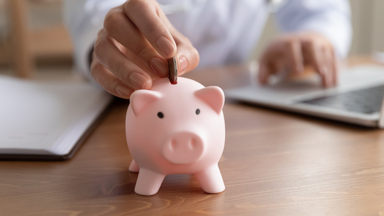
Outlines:
[[[302,114],[358,124],[384,127],[384,67],[359,65],[339,72],[336,87],[324,89],[320,78],[286,81],[274,77],[270,85],[255,82],[228,89],[226,99],[284,109]]]

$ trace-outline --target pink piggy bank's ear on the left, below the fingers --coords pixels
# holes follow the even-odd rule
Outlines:
[[[133,114],[138,115],[147,105],[160,99],[159,92],[140,89],[130,95],[129,106],[132,107]]]

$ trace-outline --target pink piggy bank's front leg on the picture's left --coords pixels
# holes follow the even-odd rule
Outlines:
[[[164,177],[163,174],[141,168],[137,177],[135,192],[145,196],[154,195],[159,191]]]

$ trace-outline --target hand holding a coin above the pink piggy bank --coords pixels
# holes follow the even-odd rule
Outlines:
[[[176,55],[179,75],[199,62],[191,41],[179,33],[156,0],[128,0],[111,9],[97,35],[91,74],[109,93],[129,98],[168,75],[167,59]]]

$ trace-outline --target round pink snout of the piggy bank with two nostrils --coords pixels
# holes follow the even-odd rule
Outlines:
[[[173,164],[190,164],[201,157],[204,151],[202,139],[191,132],[178,132],[166,139],[162,154]]]

